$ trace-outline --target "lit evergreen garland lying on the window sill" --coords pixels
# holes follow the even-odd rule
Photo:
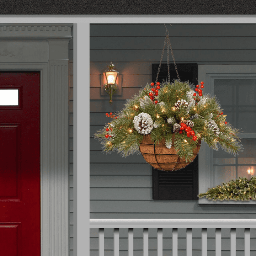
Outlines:
[[[206,197],[213,201],[250,201],[256,200],[256,177],[247,178],[239,177],[214,188],[208,188],[206,193],[198,195],[199,198]]]

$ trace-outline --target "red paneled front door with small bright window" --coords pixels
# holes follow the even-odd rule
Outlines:
[[[0,72],[0,255],[40,255],[38,71]]]

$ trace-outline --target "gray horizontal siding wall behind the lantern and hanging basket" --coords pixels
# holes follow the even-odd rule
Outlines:
[[[166,26],[176,63],[256,64],[255,24]],[[127,98],[151,82],[151,64],[160,62],[165,31],[163,24],[90,25],[90,218],[255,218],[250,205],[153,201],[151,166],[143,157],[107,155],[93,138],[108,122],[106,112],[121,110]],[[122,96],[113,96],[112,106],[109,97],[100,96],[100,74],[111,61],[123,76]]]

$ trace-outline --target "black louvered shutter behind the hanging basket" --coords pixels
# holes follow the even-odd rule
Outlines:
[[[155,82],[159,64],[152,64],[152,82]],[[198,84],[198,65],[196,63],[177,64],[181,81]],[[167,63],[161,64],[158,82],[167,80]],[[170,63],[170,81],[177,79],[174,63]],[[198,199],[198,155],[185,168],[166,172],[152,167],[154,200],[193,200]]]

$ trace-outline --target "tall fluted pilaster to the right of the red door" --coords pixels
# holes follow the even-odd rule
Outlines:
[[[68,256],[68,60],[49,60],[49,255]]]

